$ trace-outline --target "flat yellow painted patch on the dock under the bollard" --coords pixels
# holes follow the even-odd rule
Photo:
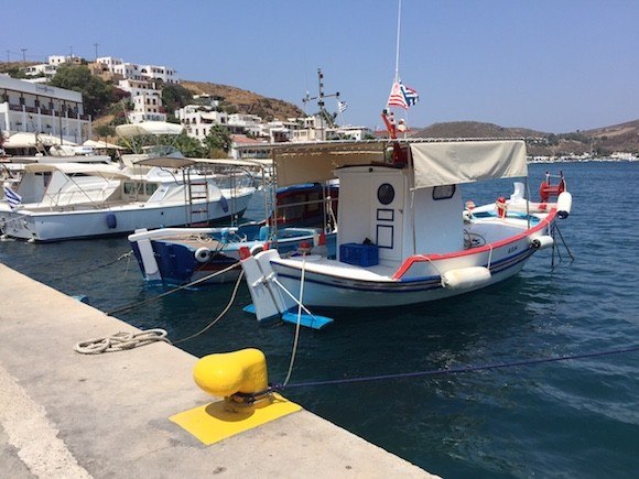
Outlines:
[[[175,414],[170,420],[208,446],[300,410],[299,404],[274,393],[271,401],[251,406],[217,401]]]

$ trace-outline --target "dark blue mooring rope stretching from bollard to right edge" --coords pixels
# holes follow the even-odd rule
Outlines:
[[[293,389],[293,388],[311,388],[316,385],[334,385],[334,384],[350,384],[356,382],[370,382],[370,381],[383,381],[383,380],[391,380],[391,379],[405,379],[405,378],[420,378],[425,375],[443,375],[443,374],[462,374],[466,372],[474,372],[474,371],[485,371],[489,369],[505,369],[505,368],[516,368],[519,366],[537,366],[543,364],[548,362],[559,362],[559,361],[570,361],[573,359],[585,359],[585,358],[597,358],[602,356],[611,356],[611,355],[621,355],[625,352],[635,352],[639,351],[639,346],[632,346],[625,349],[613,349],[607,351],[598,351],[598,352],[585,352],[583,355],[573,355],[573,356],[560,356],[556,358],[541,358],[541,359],[528,359],[524,361],[515,361],[515,362],[503,362],[499,364],[484,364],[484,366],[467,366],[463,368],[451,368],[451,369],[435,369],[431,371],[418,371],[418,372],[402,372],[397,374],[380,374],[380,375],[368,375],[362,378],[347,378],[347,379],[332,379],[325,381],[308,381],[308,382],[299,382],[294,384],[274,384],[271,387],[271,390],[281,391],[283,389]]]

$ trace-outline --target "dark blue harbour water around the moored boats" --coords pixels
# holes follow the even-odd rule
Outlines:
[[[284,395],[444,477],[639,476],[639,352],[301,385],[639,345],[639,163],[534,164],[531,187],[549,168],[563,170],[573,194],[571,217],[560,228],[574,261],[562,249],[553,268],[550,251],[541,251],[518,276],[477,293],[412,307],[339,312],[329,328],[302,330],[292,388]],[[467,189],[476,204],[494,200],[479,185]],[[249,216],[260,209],[258,204]],[[121,238],[4,241],[0,261],[110,312],[162,292],[143,283],[134,260],[116,261],[129,250]],[[177,340],[209,324],[231,290],[229,284],[181,291],[117,316],[143,329],[164,328]],[[242,285],[218,324],[180,347],[196,356],[260,348],[270,380],[282,382],[294,327],[258,325],[241,312],[249,302]]]

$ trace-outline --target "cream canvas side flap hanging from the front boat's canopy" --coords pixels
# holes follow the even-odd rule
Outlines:
[[[414,187],[528,176],[523,140],[411,143]]]

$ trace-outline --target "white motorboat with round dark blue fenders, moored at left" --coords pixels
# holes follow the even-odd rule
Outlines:
[[[210,162],[155,157],[124,168],[26,165],[18,187],[4,189],[11,200],[0,203],[0,231],[11,238],[59,241],[241,217],[256,187],[235,181],[218,186],[228,173],[203,173]]]

